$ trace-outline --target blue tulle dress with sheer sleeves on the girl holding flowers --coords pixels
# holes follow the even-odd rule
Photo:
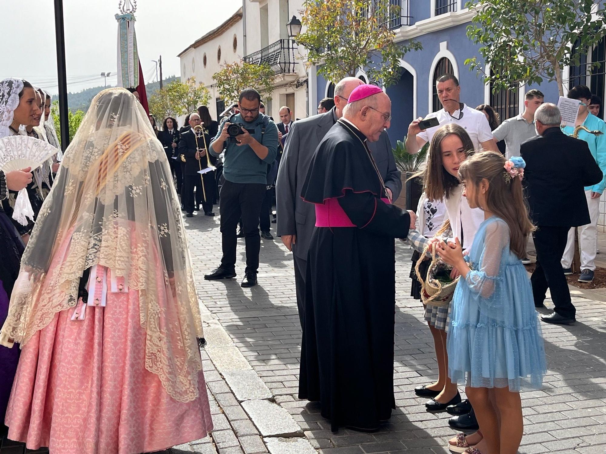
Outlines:
[[[447,337],[448,375],[471,387],[542,387],[546,372],[541,327],[528,275],[510,251],[509,228],[491,217],[468,257],[472,271],[454,291]]]

